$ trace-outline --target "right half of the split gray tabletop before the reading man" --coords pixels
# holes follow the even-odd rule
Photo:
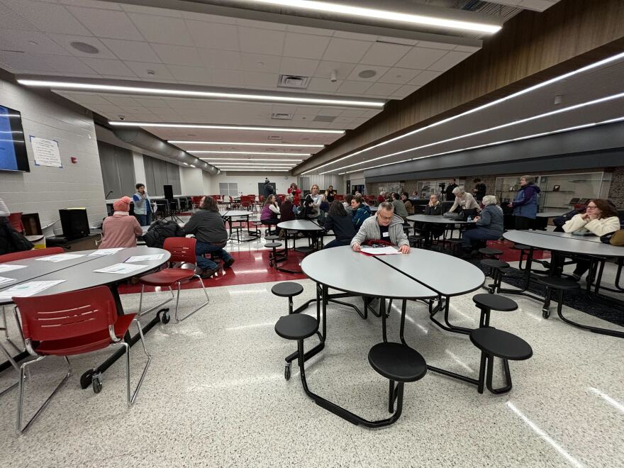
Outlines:
[[[457,296],[479,289],[485,275],[474,264],[431,250],[413,249],[409,255],[380,255],[379,260],[442,296]]]

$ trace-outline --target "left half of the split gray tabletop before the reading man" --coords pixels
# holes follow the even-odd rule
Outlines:
[[[413,254],[408,254],[409,257]],[[399,257],[399,255],[390,255]],[[362,296],[395,299],[436,297],[426,286],[406,277],[370,255],[353,252],[348,245],[324,249],[301,262],[307,277],[332,289]]]

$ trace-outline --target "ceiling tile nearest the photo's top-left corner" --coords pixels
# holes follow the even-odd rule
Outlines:
[[[33,4],[24,0],[4,0],[4,4],[23,18],[27,18],[39,30],[46,33],[67,33],[91,35],[89,30],[69,13],[65,6],[55,4]],[[3,12],[4,14],[4,12]]]

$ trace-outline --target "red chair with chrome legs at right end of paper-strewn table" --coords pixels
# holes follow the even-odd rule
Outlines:
[[[174,299],[172,286],[177,283],[178,285],[178,295],[176,299],[176,308],[174,313],[174,318],[176,322],[182,322],[186,318],[192,316],[196,311],[199,311],[200,308],[207,306],[210,303],[210,299],[208,299],[208,291],[206,291],[206,286],[204,286],[204,282],[199,277],[199,274],[195,273],[196,267],[196,257],[195,257],[195,244],[196,240],[194,238],[167,238],[165,239],[165,244],[162,246],[165,250],[169,250],[171,253],[171,258],[169,259],[170,263],[182,263],[184,264],[192,264],[193,269],[188,268],[165,268],[160,270],[160,272],[146,274],[143,277],[139,278],[139,282],[141,284],[141,296],[139,299],[139,317],[144,316],[146,313],[150,313],[155,308],[160,308],[164,306],[166,303]],[[201,284],[201,288],[204,289],[204,294],[206,294],[206,302],[201,304],[201,306],[197,307],[194,311],[191,311],[186,314],[186,316],[182,318],[178,318],[178,303],[180,301],[180,286],[182,283],[189,282],[191,279],[197,278],[199,279],[199,284]],[[160,286],[160,287],[168,287],[171,292],[171,297],[166,301],[158,304],[157,306],[153,306],[148,308],[147,311],[142,312],[141,307],[143,306],[143,291],[145,290],[145,286]]]

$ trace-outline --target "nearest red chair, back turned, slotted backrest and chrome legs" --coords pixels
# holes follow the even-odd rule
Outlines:
[[[115,299],[106,286],[71,291],[49,296],[14,297],[22,323],[22,333],[26,350],[35,360],[24,362],[20,367],[17,430],[23,433],[50,403],[52,396],[61,388],[72,374],[69,356],[82,355],[85,352],[104,350],[110,345],[126,348],[126,401],[132,406],[140,390],[147,367],[152,357],[147,352],[143,331],[135,313],[119,316]],[[143,351],[147,355],[147,364],[133,394],[130,394],[130,345],[123,340],[131,323],[135,323],[140,335]],[[48,356],[62,356],[67,362],[67,375],[52,391],[35,416],[22,427],[24,372],[26,367]],[[101,391],[101,375],[94,374],[93,388]]]

